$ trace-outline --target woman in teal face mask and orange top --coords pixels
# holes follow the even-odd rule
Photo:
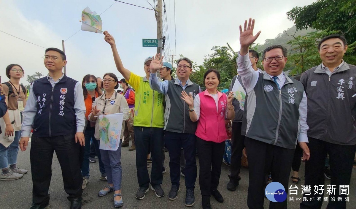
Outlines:
[[[84,137],[85,137],[85,147],[83,153],[83,163],[82,163],[82,176],[83,176],[83,184],[82,189],[87,187],[89,183],[89,156],[90,156],[90,141],[93,142],[96,150],[99,150],[99,141],[95,140],[94,133],[95,133],[95,123],[88,121],[88,116],[91,113],[91,109],[93,108],[93,104],[96,98],[101,96],[101,90],[97,85],[97,79],[94,75],[85,75],[82,81],[82,88],[84,94],[84,102],[85,108],[87,111],[85,112],[85,129],[84,129]],[[103,162],[101,161],[100,152],[98,152],[98,160],[99,160],[99,170],[101,176],[99,179],[105,179],[105,167]]]

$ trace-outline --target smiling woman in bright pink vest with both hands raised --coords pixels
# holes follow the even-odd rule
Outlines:
[[[197,147],[199,157],[199,186],[202,195],[203,209],[210,209],[210,196],[222,203],[223,196],[218,191],[221,164],[227,139],[225,116],[234,119],[232,92],[228,96],[216,88],[220,84],[220,73],[209,69],[204,74],[206,90],[193,96],[182,92],[182,99],[189,105],[190,120],[198,121]]]

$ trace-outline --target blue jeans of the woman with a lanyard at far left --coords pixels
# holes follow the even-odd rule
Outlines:
[[[19,141],[21,138],[21,131],[15,131],[14,141],[10,146],[5,147],[0,144],[0,168],[4,169],[9,165],[17,163],[17,153],[19,153]]]

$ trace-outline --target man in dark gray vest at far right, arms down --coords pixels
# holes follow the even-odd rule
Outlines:
[[[308,146],[313,153],[305,162],[305,185],[319,186],[324,192],[329,187],[332,192],[327,208],[346,208],[356,152],[356,97],[353,97],[356,66],[342,60],[347,43],[339,34],[323,38],[318,50],[323,62],[305,71],[300,78],[308,98]],[[322,188],[326,154],[330,156],[331,183]],[[324,192],[304,194],[308,202],[300,203],[300,208],[321,208],[323,201],[317,201],[317,198],[325,201]],[[310,198],[315,200],[310,201]]]

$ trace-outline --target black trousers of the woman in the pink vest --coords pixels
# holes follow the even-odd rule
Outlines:
[[[210,197],[212,190],[218,190],[221,164],[223,163],[225,152],[225,141],[216,143],[197,137],[197,147],[201,196]]]

